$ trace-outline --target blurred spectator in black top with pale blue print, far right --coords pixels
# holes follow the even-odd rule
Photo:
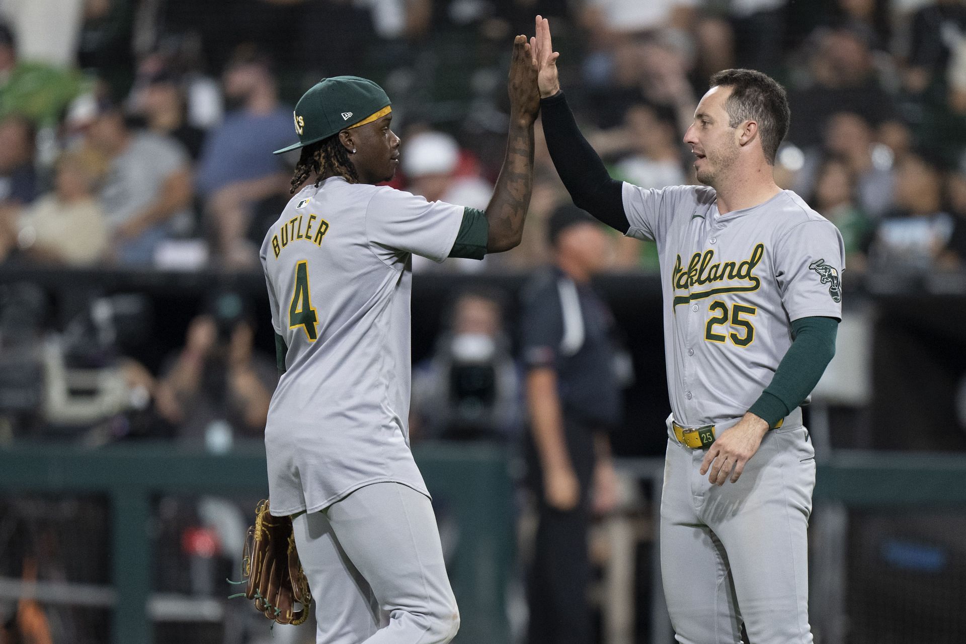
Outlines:
[[[895,211],[882,220],[870,250],[883,270],[929,270],[952,237],[953,219],[943,210],[943,176],[920,154],[896,167]]]

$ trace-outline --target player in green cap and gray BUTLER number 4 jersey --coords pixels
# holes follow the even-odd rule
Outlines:
[[[518,36],[506,156],[485,211],[376,183],[399,164],[389,98],[325,78],[295,109],[295,196],[261,249],[284,370],[265,431],[270,511],[295,515],[320,644],[433,644],[459,628],[429,492],[412,460],[412,255],[482,259],[520,242],[536,69]],[[304,187],[299,187],[306,182]]]

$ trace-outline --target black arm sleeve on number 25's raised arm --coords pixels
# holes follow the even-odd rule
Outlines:
[[[563,92],[540,99],[547,149],[574,204],[611,228],[627,233],[623,182],[611,179],[604,161],[583,138]]]

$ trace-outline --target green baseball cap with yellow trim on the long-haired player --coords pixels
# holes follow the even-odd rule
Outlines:
[[[298,150],[343,129],[372,123],[391,111],[389,97],[371,80],[358,76],[323,78],[296,103],[294,117],[298,143],[272,154]]]

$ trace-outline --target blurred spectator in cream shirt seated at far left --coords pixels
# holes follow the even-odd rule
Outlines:
[[[15,224],[17,245],[43,263],[85,266],[101,261],[107,250],[107,217],[96,195],[106,172],[106,160],[94,150],[62,154],[54,190],[24,210]]]

